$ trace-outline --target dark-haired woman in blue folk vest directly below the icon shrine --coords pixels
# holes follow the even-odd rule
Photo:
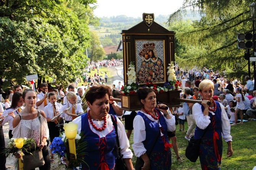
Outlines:
[[[151,88],[138,90],[143,108],[133,120],[134,154],[137,158],[136,170],[170,170],[172,154],[167,138],[167,130],[175,131],[175,117],[169,110],[156,107],[156,94]],[[166,106],[161,104],[161,106]],[[144,164],[138,165],[139,160]],[[141,161],[142,162],[142,161]]]

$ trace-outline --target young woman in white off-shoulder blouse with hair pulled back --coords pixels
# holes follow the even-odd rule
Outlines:
[[[36,141],[37,149],[41,150],[45,164],[39,167],[39,170],[50,170],[50,157],[47,148],[46,140],[49,138],[49,129],[45,118],[44,111],[35,109],[36,91],[32,89],[25,90],[22,94],[22,99],[26,104],[25,108],[13,119],[13,138],[33,138]],[[39,121],[39,112],[41,114],[41,124]],[[40,129],[41,128],[41,129]],[[40,130],[41,140],[40,141]],[[16,154],[16,158],[20,158]]]

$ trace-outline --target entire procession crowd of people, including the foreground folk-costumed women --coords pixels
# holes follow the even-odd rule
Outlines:
[[[194,87],[190,80],[181,79],[183,81],[180,97],[199,100],[202,101],[201,104],[183,103],[180,107],[165,109],[164,104],[156,105],[157,93],[151,88],[141,88],[138,96],[143,107],[133,112],[124,112],[120,102],[111,100],[120,98],[121,82],[118,83],[119,87],[97,83],[88,86],[89,89],[78,89],[77,93],[73,85],[69,85],[67,91],[60,87],[58,91],[53,90],[50,93],[47,83],[41,83],[40,93],[31,89],[23,91],[23,88],[17,85],[10,90],[12,93],[9,95],[9,101],[5,101],[9,105],[0,105],[0,117],[3,119],[0,121],[0,149],[3,151],[5,148],[2,126],[8,122],[9,138],[33,138],[37,148],[42,149],[45,160],[44,166],[39,169],[50,170],[51,163],[55,160],[53,153],[48,151],[48,146],[54,137],[63,132],[62,126],[56,125],[73,121],[78,124],[78,132],[87,136],[85,140],[90,145],[85,149],[85,152],[88,152],[85,156],[87,164],[81,164],[82,169],[113,169],[117,157],[115,144],[119,141],[121,154],[129,170],[133,167],[136,170],[170,170],[170,148],[173,148],[177,161],[183,162],[178,153],[175,135],[175,125],[178,123],[179,131],[186,131],[186,140],[202,139],[199,154],[202,169],[219,169],[222,162],[222,137],[228,145],[227,157],[233,153],[230,122],[233,122],[232,125],[243,124],[244,115],[255,119],[253,116],[256,112],[256,91],[251,90],[251,80],[247,76],[244,89],[213,72],[211,78],[206,78],[207,76],[196,78]],[[83,90],[86,91],[85,96]],[[80,101],[83,97],[86,99],[86,110]],[[57,102],[58,98],[63,99],[63,104]],[[62,114],[59,117],[53,119],[60,113]],[[118,119],[123,115],[125,126]],[[188,127],[185,127],[185,120]],[[114,128],[115,123],[117,131]],[[132,131],[133,152],[129,143]],[[137,157],[135,165],[131,162],[133,153]],[[21,156],[16,154],[15,157]],[[0,160],[4,160],[0,163],[0,169],[7,169],[4,154],[0,154]]]

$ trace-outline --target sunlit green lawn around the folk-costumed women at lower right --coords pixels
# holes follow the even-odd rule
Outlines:
[[[179,129],[179,125],[176,126]],[[185,130],[188,125],[185,122]],[[188,141],[184,138],[185,132],[176,131],[177,143],[180,157],[184,162],[178,162],[172,149],[172,170],[201,170],[199,159],[193,163],[185,157],[185,149]],[[232,148],[233,156],[227,157],[227,143],[223,140],[222,170],[252,170],[256,166],[256,121],[249,121],[243,125],[231,127],[233,137]],[[170,140],[171,141],[171,140]],[[133,133],[130,138],[130,148],[133,144]],[[135,166],[136,157],[133,155],[133,165]]]

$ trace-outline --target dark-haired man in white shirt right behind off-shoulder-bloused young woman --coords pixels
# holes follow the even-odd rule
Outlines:
[[[39,110],[44,110],[44,107],[49,103],[47,98],[48,85],[47,83],[41,83],[41,93],[37,94],[36,106]]]

